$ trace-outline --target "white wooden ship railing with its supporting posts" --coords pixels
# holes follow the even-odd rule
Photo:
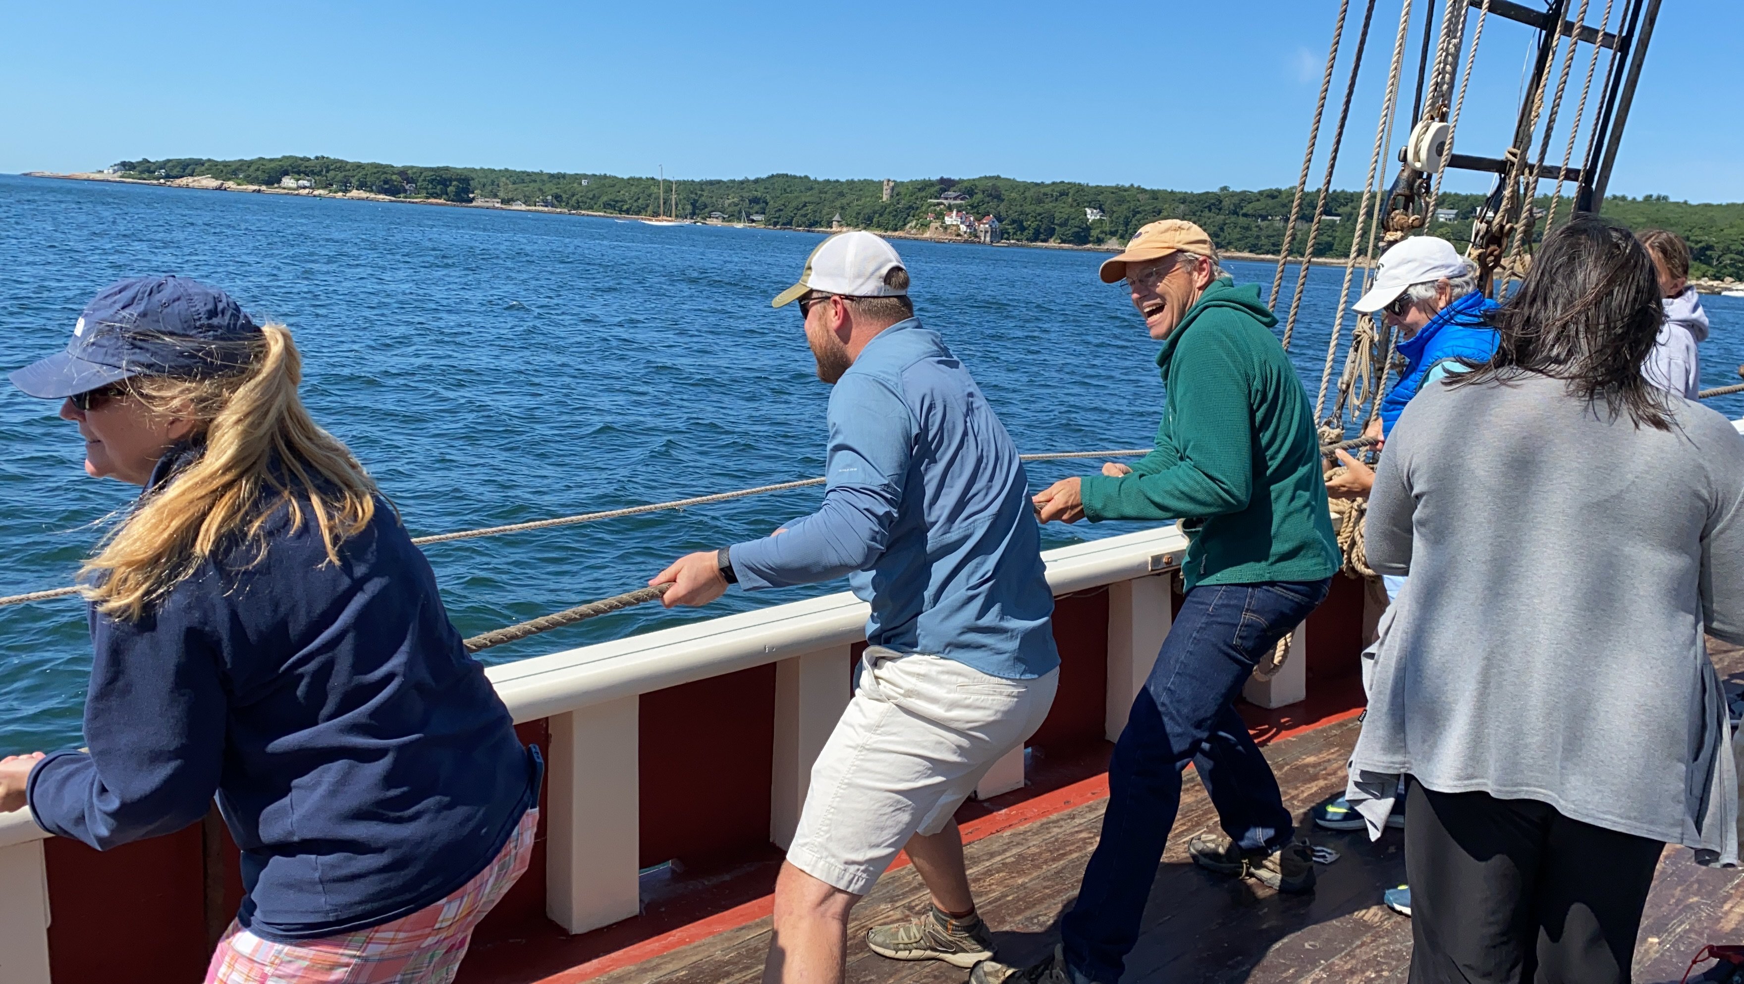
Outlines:
[[[1109,588],[1106,735],[1149,673],[1170,625],[1168,577],[1186,539],[1170,525],[1043,555],[1055,595]],[[769,839],[787,844],[811,764],[848,705],[849,647],[863,640],[867,605],[842,591],[535,656],[487,670],[516,722],[548,721],[546,912],[572,933],[635,916],[638,897],[638,698],[651,691],[776,665]],[[1305,659],[1250,700],[1301,700]],[[1024,782],[1022,748],[1006,755],[982,796]],[[28,811],[0,815],[0,981],[47,984],[51,919],[44,834]]]

